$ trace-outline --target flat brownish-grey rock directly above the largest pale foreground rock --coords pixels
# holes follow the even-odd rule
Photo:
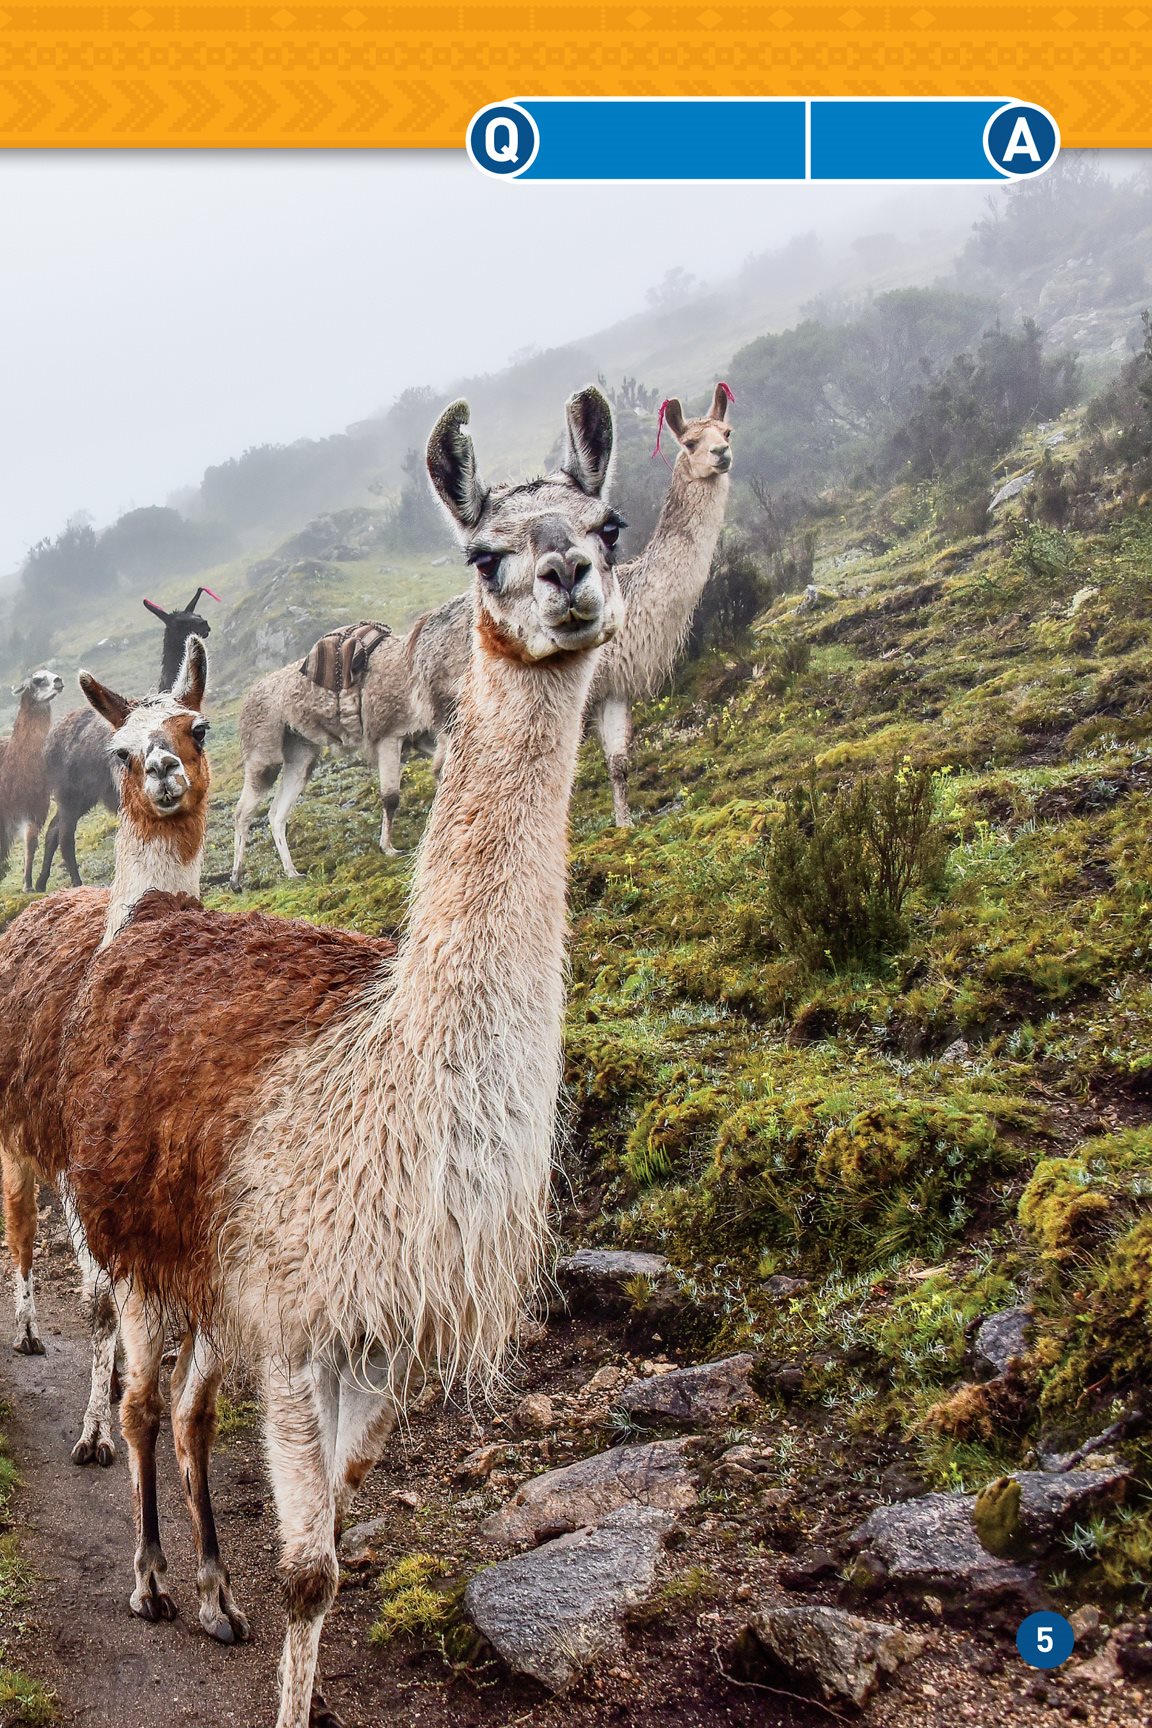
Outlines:
[[[523,1483],[508,1505],[482,1526],[489,1541],[515,1547],[537,1541],[541,1533],[582,1529],[617,1507],[642,1505],[684,1512],[696,1503],[696,1484],[684,1460],[686,1439],[656,1439],[648,1446],[615,1446],[548,1471]]]

